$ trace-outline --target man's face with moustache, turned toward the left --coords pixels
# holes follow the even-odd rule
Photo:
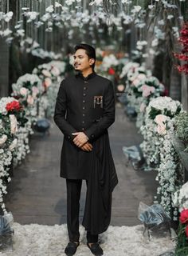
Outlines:
[[[92,64],[95,62],[94,58],[88,58],[88,55],[85,53],[84,49],[76,50],[76,53],[73,55],[74,58],[74,68],[75,70],[88,70],[91,68]]]

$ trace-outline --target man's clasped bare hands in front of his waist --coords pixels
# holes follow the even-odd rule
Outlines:
[[[88,142],[88,137],[83,132],[72,133],[72,135],[76,135],[73,139],[73,142],[76,146],[80,147],[80,149],[84,151],[92,151],[92,144]]]

